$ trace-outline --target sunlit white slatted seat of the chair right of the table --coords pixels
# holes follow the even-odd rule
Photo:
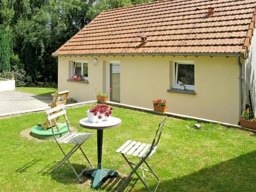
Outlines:
[[[127,140],[122,146],[116,150],[117,153],[132,155],[135,157],[144,157],[150,151],[151,144],[141,143],[137,141]],[[150,158],[156,152],[157,146],[152,150]]]

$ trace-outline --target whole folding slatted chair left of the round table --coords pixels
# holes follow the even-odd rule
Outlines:
[[[54,137],[54,140],[56,141],[57,145],[59,146],[62,154],[64,155],[63,159],[61,159],[55,166],[54,168],[51,170],[50,173],[54,172],[54,170],[56,170],[60,165],[62,165],[63,163],[65,163],[66,161],[68,162],[68,165],[69,167],[73,170],[73,172],[75,173],[77,179],[79,182],[81,182],[81,174],[86,170],[88,169],[89,166],[87,166],[79,175],[77,174],[75,168],[73,167],[73,165],[70,163],[69,161],[69,158],[78,150],[78,148],[80,149],[80,151],[82,152],[84,158],[86,158],[86,160],[88,161],[89,165],[91,167],[92,164],[91,162],[89,161],[89,159],[87,158],[86,154],[83,152],[82,148],[81,148],[81,145],[86,142],[90,137],[92,137],[94,134],[93,133],[72,133],[70,131],[70,128],[69,128],[69,120],[67,118],[67,112],[65,110],[65,105],[59,105],[59,106],[56,106],[55,108],[52,108],[52,109],[49,109],[49,110],[46,110],[46,113],[47,113],[47,119],[49,120],[50,124],[51,124],[51,129],[52,129],[52,133],[53,133],[53,137]],[[60,116],[64,116],[65,117],[65,120],[66,120],[66,123],[63,123],[61,124],[60,126],[57,125],[57,122],[56,122],[56,118],[60,117]],[[63,128],[63,126],[68,126],[68,131],[69,133],[66,134],[65,136],[62,136],[60,138],[56,138],[55,136],[55,132],[53,130],[53,124],[52,124],[52,121],[56,127],[56,130],[57,132],[59,132],[59,129]],[[71,151],[69,153],[65,153],[61,146],[60,146],[60,143],[63,143],[63,144],[75,144],[75,146],[71,149]]]

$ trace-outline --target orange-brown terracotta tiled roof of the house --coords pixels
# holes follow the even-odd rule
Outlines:
[[[255,0],[166,0],[103,11],[53,55],[247,53],[255,6]],[[147,36],[143,46],[140,36]]]

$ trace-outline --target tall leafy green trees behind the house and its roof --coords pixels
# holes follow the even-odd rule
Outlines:
[[[25,70],[35,85],[56,83],[57,58],[51,56],[54,51],[102,10],[151,1],[2,0],[0,25],[9,38],[11,70]]]

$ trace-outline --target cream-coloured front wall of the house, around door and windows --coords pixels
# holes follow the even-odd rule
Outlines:
[[[98,59],[98,65],[92,61]],[[78,101],[95,100],[95,88],[106,90],[105,63],[120,62],[120,102],[153,108],[153,99],[166,99],[169,112],[232,124],[239,121],[239,66],[237,57],[100,56],[59,57],[58,90],[70,91]],[[88,62],[89,83],[70,82],[71,60]],[[170,93],[174,61],[195,62],[196,95]]]

